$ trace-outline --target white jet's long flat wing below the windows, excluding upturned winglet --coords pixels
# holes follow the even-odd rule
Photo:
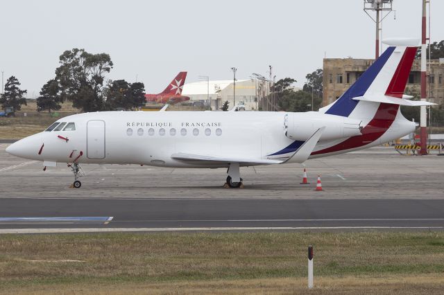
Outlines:
[[[269,159],[247,159],[247,158],[235,158],[235,157],[220,157],[210,156],[204,154],[187,154],[184,152],[178,152],[171,154],[171,158],[194,163],[239,163],[241,166],[253,166],[253,165],[271,165],[279,164],[282,161],[269,160]]]

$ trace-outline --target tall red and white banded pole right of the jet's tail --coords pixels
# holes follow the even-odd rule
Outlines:
[[[427,0],[422,0],[422,38],[421,38],[421,101],[427,100],[427,47],[426,34],[427,34]],[[421,149],[419,154],[427,154],[427,110],[425,105],[421,106],[420,112],[420,141]]]

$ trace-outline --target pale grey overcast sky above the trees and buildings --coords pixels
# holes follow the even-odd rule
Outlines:
[[[394,0],[396,19],[384,37],[420,37],[421,0]],[[71,48],[109,53],[108,78],[164,89],[179,71],[187,82],[250,74],[296,78],[322,67],[323,57],[371,58],[375,25],[363,0],[340,1],[6,1],[0,0],[0,69],[15,75],[28,97],[53,78]],[[444,39],[444,1],[432,0],[432,41]]]

